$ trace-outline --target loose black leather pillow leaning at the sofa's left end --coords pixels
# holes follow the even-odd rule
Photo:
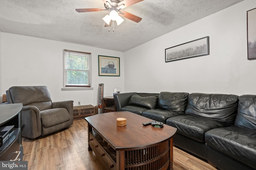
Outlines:
[[[134,94],[130,97],[129,105],[146,107],[148,109],[156,109],[157,100],[157,96],[142,97],[138,94]]]

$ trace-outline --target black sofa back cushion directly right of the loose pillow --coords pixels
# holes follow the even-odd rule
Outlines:
[[[188,93],[160,92],[158,107],[165,110],[184,112],[188,104]]]

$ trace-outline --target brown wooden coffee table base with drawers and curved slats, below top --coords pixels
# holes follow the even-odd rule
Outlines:
[[[89,132],[89,150],[92,149],[106,170],[167,170],[170,169],[170,146],[166,140],[139,149],[113,149],[94,129]],[[117,155],[119,156],[117,161]],[[124,168],[122,163],[124,161]]]

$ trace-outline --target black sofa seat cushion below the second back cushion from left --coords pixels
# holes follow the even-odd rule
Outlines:
[[[168,119],[169,117],[177,115],[180,115],[180,113],[164,109],[150,109],[142,112],[142,116],[148,117],[155,121],[160,121],[162,123],[166,123],[166,119]]]

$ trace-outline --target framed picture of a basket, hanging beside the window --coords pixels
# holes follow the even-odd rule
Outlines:
[[[120,58],[98,55],[99,76],[120,76]]]

